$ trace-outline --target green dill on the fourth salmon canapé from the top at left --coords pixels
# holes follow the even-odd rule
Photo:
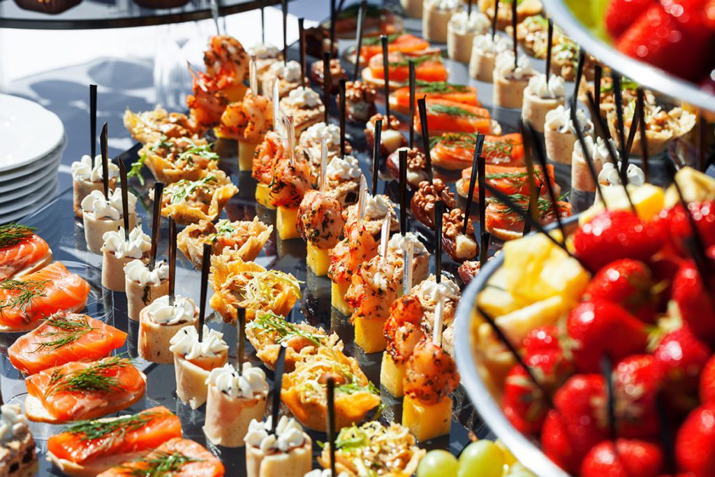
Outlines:
[[[61,391],[111,391],[119,389],[119,380],[116,376],[107,375],[107,371],[112,368],[124,368],[129,364],[127,358],[113,356],[89,365],[89,368],[83,370],[63,373],[61,370],[56,369],[51,375],[51,388],[47,395]]]

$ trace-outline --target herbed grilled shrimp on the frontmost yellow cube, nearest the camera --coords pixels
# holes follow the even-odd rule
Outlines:
[[[459,385],[454,360],[425,336],[407,362],[405,394],[425,403],[439,403]]]

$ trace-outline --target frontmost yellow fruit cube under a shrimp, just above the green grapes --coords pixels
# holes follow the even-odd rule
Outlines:
[[[439,403],[423,403],[405,395],[403,426],[420,441],[429,441],[449,433],[452,425],[452,400],[447,397]]]

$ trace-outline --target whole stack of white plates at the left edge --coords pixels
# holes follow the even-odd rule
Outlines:
[[[56,195],[65,146],[56,114],[0,94],[0,224],[28,215]]]

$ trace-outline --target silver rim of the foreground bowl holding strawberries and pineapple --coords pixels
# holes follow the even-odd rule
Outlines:
[[[575,222],[578,222],[578,215],[563,220],[563,225],[573,225]],[[553,227],[556,227],[555,223],[546,228],[549,230]],[[489,393],[475,367],[476,358],[472,350],[470,329],[472,312],[475,308],[477,295],[484,289],[490,277],[501,267],[503,262],[503,254],[487,262],[462,292],[454,323],[457,369],[461,375],[462,385],[467,390],[467,394],[481,418],[523,466],[542,477],[570,477],[566,471],[546,457],[541,448],[530,438],[511,425],[499,404]]]

